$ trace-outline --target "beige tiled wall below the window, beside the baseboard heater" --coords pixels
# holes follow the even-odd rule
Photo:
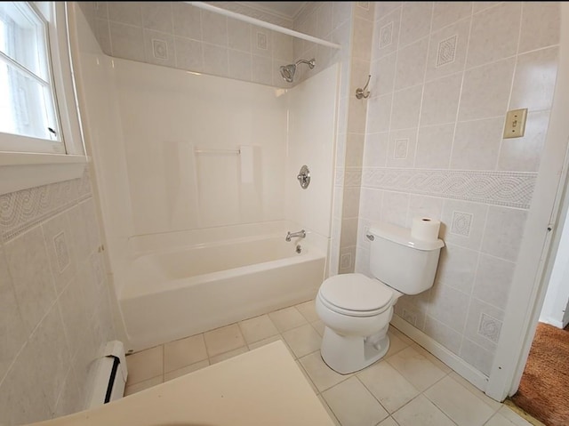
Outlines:
[[[89,174],[0,196],[0,423],[84,409],[114,340]]]

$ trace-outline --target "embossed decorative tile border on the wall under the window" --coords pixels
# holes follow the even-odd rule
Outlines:
[[[0,237],[6,242],[41,221],[91,197],[91,180],[85,172],[79,179],[22,189],[0,196]]]

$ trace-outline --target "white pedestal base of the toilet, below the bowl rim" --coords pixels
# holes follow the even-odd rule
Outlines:
[[[389,350],[388,327],[373,336],[345,336],[325,327],[320,354],[327,366],[340,374],[350,374],[371,366]]]

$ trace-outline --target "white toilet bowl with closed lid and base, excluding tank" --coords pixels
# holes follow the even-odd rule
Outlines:
[[[393,306],[402,294],[363,274],[327,278],[316,298],[325,323],[320,353],[340,374],[361,370],[389,350],[387,335]]]

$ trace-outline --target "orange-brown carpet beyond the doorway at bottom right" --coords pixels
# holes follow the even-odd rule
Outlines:
[[[569,425],[569,331],[539,323],[511,400],[548,426]]]

